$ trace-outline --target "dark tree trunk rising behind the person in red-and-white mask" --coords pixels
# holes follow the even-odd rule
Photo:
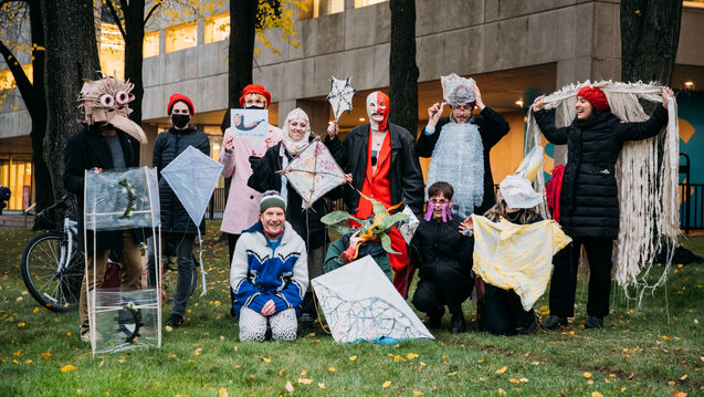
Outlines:
[[[391,54],[389,56],[389,119],[418,130],[418,65],[416,64],[416,1],[390,0]]]

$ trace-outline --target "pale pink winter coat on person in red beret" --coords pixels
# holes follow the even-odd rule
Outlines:
[[[223,140],[228,135],[231,135],[230,128],[225,129]],[[241,234],[242,230],[249,229],[259,220],[259,200],[262,194],[246,186],[246,180],[252,175],[249,158],[252,152],[262,157],[266,149],[283,138],[283,133],[281,128],[270,125],[267,137],[271,138],[269,145],[263,142],[255,143],[249,138],[234,137],[232,153],[227,153],[224,148],[220,150],[220,164],[224,166],[222,176],[232,177],[220,227],[220,230],[225,233]]]

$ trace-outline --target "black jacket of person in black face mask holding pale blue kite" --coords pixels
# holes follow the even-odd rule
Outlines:
[[[178,155],[192,146],[207,156],[210,156],[210,140],[202,132],[188,125],[186,129],[176,129],[174,126],[166,133],[159,134],[154,143],[151,161],[159,173],[159,201],[161,203],[161,230],[165,233],[197,233],[196,224],[181,205],[171,187],[161,178],[161,170],[168,166]],[[200,221],[200,232],[206,233],[206,220]]]

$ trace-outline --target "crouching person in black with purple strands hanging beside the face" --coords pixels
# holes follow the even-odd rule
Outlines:
[[[428,326],[438,328],[446,305],[452,314],[450,332],[456,334],[466,332],[462,302],[472,293],[474,240],[460,232],[462,218],[450,213],[453,195],[444,181],[428,189],[428,215],[416,229],[409,253],[420,275],[413,306],[428,313]]]

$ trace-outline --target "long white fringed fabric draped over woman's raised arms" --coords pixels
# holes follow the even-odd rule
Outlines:
[[[654,83],[587,81],[570,84],[544,100],[544,108],[556,109],[557,125],[571,124],[576,115],[577,92],[586,85],[601,88],[609,100],[611,113],[623,122],[644,122],[649,118],[639,98],[662,103],[662,86]],[[661,132],[649,139],[623,143],[616,168],[620,206],[620,229],[614,254],[616,280],[627,295],[629,288],[635,288],[639,305],[645,292],[652,293],[664,284],[680,234],[680,202],[676,196],[679,125],[674,98],[668,100],[668,126],[664,130],[664,134]],[[540,144],[540,132],[530,108],[524,153]],[[662,148],[662,157],[659,157],[659,147]],[[542,178],[536,182],[539,189],[544,189]],[[655,255],[665,247],[669,255],[664,272],[651,285],[648,275]]]

